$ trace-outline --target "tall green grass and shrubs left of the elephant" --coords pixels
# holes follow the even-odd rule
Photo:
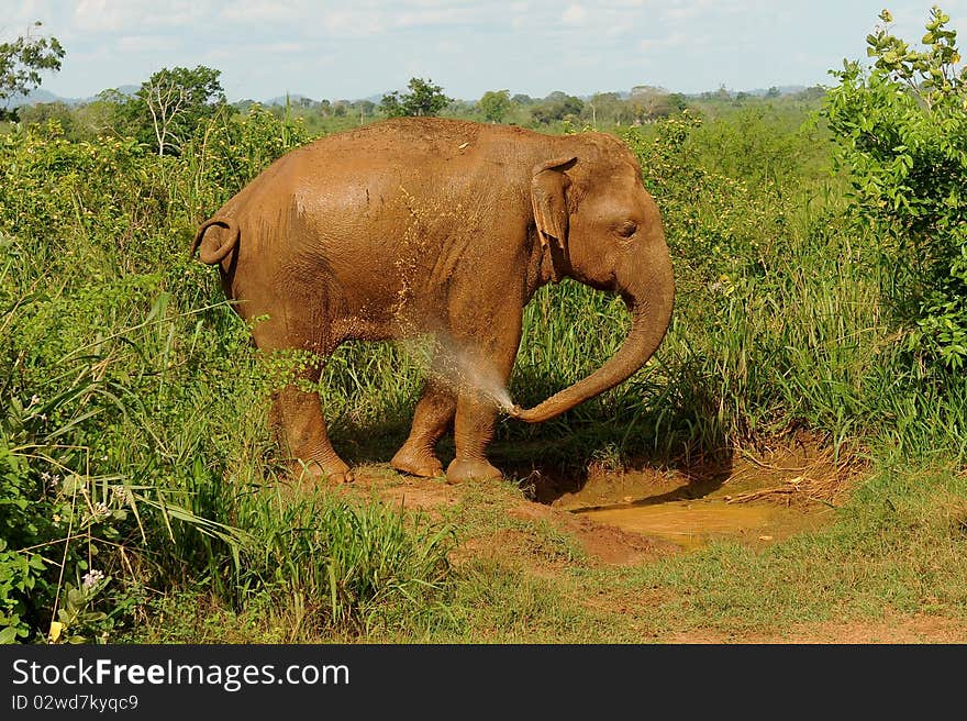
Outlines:
[[[203,212],[305,140],[288,132],[256,112],[180,158],[55,125],[3,138],[2,640],[109,637],[187,578],[230,606],[304,597],[340,633],[405,626],[443,588],[447,526],[284,502],[271,374],[186,257]]]

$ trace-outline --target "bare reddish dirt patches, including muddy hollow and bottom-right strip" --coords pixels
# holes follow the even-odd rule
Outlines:
[[[351,491],[354,495],[375,493],[431,515],[462,503],[468,492],[480,492],[467,485],[407,478],[380,467],[360,470]],[[688,553],[713,539],[729,537],[762,548],[815,529],[832,520],[832,510],[863,473],[863,464],[855,458],[837,458],[807,442],[692,467],[629,472],[592,466],[579,480],[530,478],[522,484],[523,493],[502,500],[508,507],[501,510],[509,518],[547,523],[565,532],[580,545],[585,563],[636,565]],[[525,535],[503,529],[471,539],[457,550],[454,561],[514,548],[526,556],[533,548],[526,547]],[[537,554],[533,570],[558,573],[567,563]],[[692,631],[669,642],[945,644],[967,643],[967,630],[954,619],[892,615],[879,622],[804,624],[786,630],[781,637]]]

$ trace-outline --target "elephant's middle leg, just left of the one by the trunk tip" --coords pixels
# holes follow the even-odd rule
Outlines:
[[[443,476],[443,464],[436,457],[436,442],[449,428],[456,412],[453,390],[431,377],[413,413],[410,436],[391,461],[400,473],[423,478]]]

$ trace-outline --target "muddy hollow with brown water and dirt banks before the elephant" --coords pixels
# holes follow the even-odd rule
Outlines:
[[[758,550],[834,522],[845,489],[864,469],[802,437],[758,456],[736,452],[708,464],[589,468],[579,482],[537,488],[537,496],[597,524],[683,550],[714,541]]]

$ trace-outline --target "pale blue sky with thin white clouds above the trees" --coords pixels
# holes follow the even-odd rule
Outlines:
[[[831,85],[864,59],[880,10],[919,43],[933,1],[0,0],[0,40],[34,20],[67,51],[43,87],[65,97],[163,67],[222,71],[232,101],[356,99],[430,78],[447,95],[543,97],[653,85],[679,92]],[[963,40],[967,0],[941,7]]]

